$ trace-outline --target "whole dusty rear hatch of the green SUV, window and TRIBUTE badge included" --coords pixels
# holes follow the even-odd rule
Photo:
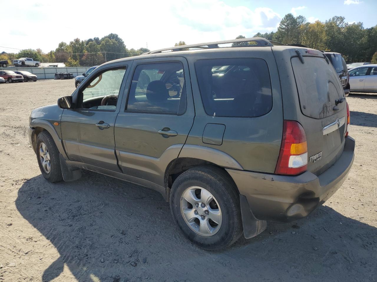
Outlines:
[[[296,49],[297,50],[297,49]],[[347,110],[345,95],[333,66],[316,50],[299,49],[291,58],[301,113],[297,121],[305,130],[308,170],[323,173],[343,152]],[[314,55],[314,56],[313,56]]]

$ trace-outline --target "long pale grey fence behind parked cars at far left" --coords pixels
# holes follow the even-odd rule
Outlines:
[[[79,76],[86,72],[90,67],[65,67],[65,68],[34,68],[34,67],[8,67],[0,70],[10,71],[29,71],[29,73],[38,76],[38,79],[53,79],[55,73],[73,73],[73,76]]]

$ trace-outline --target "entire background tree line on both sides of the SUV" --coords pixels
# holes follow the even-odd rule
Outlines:
[[[335,16],[325,22],[309,23],[305,17],[294,17],[287,14],[280,21],[276,32],[256,33],[254,37],[264,37],[268,40],[284,44],[302,44],[307,47],[338,52],[346,62],[372,62],[377,64],[377,25],[364,28],[363,23],[347,23],[344,17]],[[236,38],[245,38],[239,35]],[[185,45],[179,41],[175,46]],[[235,43],[233,46],[244,45],[245,42]],[[141,55],[149,52],[147,48],[127,49],[123,39],[117,34],[110,33],[103,38],[89,38],[60,42],[55,50],[43,53],[41,49],[25,49],[18,53],[0,54],[0,60],[29,57],[40,62],[62,62],[66,66],[100,65],[114,59]]]

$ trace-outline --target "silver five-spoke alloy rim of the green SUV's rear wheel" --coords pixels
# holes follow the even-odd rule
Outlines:
[[[221,227],[218,201],[203,187],[191,186],[182,193],[181,213],[187,225],[199,235],[215,235]]]

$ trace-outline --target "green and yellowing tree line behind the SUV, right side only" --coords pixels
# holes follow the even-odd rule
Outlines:
[[[287,14],[276,32],[258,32],[254,37],[341,53],[346,62],[377,64],[377,26],[365,29],[363,23],[347,23],[344,17],[335,16],[325,22],[317,20],[309,23],[303,16]],[[245,36],[239,35],[238,38]]]

